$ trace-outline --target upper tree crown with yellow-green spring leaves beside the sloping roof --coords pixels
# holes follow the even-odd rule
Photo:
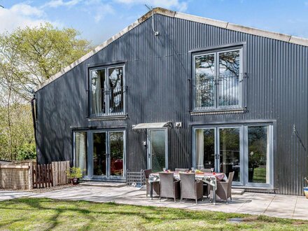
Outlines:
[[[15,92],[25,99],[31,90],[90,51],[90,42],[76,29],[57,29],[49,23],[16,29],[0,36],[0,62],[13,59]],[[14,51],[14,52],[8,52]]]

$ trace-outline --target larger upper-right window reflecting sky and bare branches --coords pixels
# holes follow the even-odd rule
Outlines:
[[[195,110],[241,107],[241,48],[194,55]]]

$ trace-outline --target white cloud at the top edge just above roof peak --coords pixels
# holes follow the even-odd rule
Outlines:
[[[180,0],[115,0],[118,3],[125,3],[127,5],[147,4],[148,6],[160,6],[162,8],[176,9],[179,11],[187,10],[186,1]]]

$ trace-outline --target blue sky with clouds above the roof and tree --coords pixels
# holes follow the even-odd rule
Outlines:
[[[144,4],[308,38],[308,0],[0,0],[5,7],[0,8],[0,33],[51,22],[78,29],[99,45],[144,15]]]

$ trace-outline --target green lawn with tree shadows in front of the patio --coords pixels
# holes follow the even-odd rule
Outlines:
[[[230,223],[230,218],[242,218]],[[137,207],[114,203],[22,198],[0,202],[0,230],[307,230],[308,221]]]

